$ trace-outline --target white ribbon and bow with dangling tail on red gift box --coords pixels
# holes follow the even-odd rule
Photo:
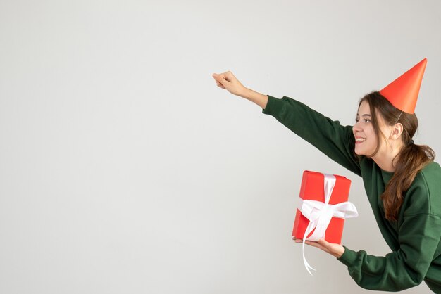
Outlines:
[[[340,219],[347,219],[350,217],[358,217],[359,213],[356,210],[354,204],[349,201],[338,203],[336,205],[329,204],[330,196],[333,193],[335,186],[335,177],[333,174],[325,175],[325,203],[316,200],[303,200],[300,199],[299,210],[307,219],[309,224],[306,227],[305,234],[303,236],[303,262],[306,270],[309,274],[312,273],[309,269],[313,269],[311,265],[306,261],[305,257],[305,241],[318,241],[325,237],[325,231],[328,229],[328,225],[333,217],[339,217]],[[309,238],[306,238],[313,229],[316,229]],[[316,269],[313,269],[314,271]]]

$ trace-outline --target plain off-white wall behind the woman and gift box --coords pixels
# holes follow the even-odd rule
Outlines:
[[[361,178],[261,108],[352,124],[428,58],[416,143],[441,151],[440,1],[0,1],[0,293],[368,293],[291,240],[303,170],[352,179],[343,244],[390,252]],[[425,284],[403,293],[430,293]]]

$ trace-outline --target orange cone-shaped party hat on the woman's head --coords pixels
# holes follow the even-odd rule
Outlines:
[[[403,75],[388,84],[380,94],[385,96],[389,102],[404,111],[413,114],[416,101],[421,87],[424,70],[426,70],[427,58],[417,63],[413,68],[404,72]]]

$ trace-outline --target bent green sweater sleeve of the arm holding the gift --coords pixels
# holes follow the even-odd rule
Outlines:
[[[399,291],[423,281],[440,243],[441,217],[427,213],[405,217],[399,228],[399,250],[377,257],[344,247],[338,258],[349,275],[369,290]]]

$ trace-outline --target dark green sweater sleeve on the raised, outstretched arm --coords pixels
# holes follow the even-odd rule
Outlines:
[[[340,122],[330,120],[287,96],[279,99],[268,95],[268,103],[262,113],[272,115],[329,158],[361,176],[359,160],[354,154],[352,126],[343,127]]]

